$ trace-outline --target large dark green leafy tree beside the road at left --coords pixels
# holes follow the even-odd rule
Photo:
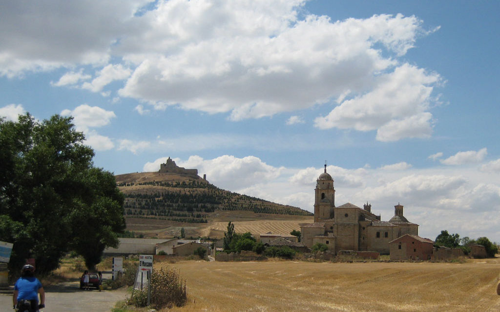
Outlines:
[[[123,232],[123,196],[92,163],[71,117],[0,120],[0,240],[14,243],[9,266],[34,258],[52,271],[69,250],[92,268]]]

